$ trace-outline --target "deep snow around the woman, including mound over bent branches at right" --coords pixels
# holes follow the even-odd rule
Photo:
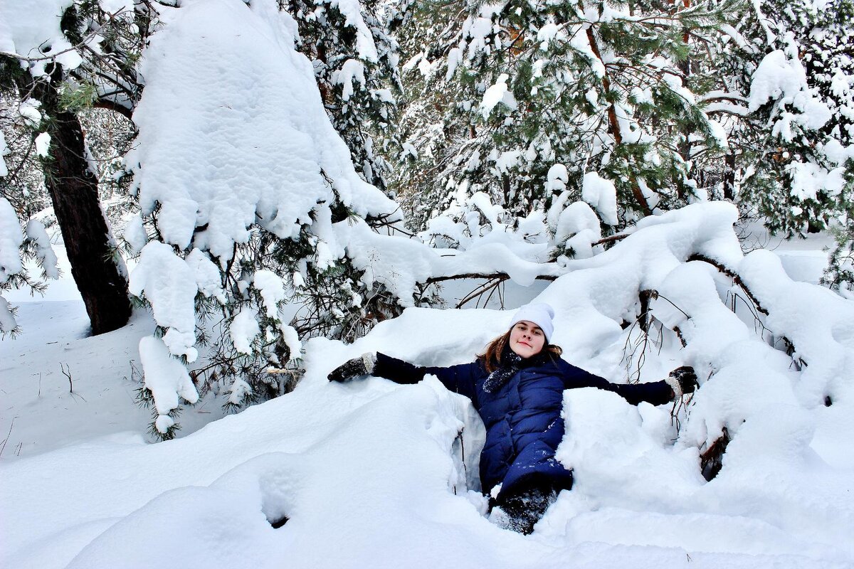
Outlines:
[[[537,299],[556,308],[554,341],[566,349],[564,357],[623,381],[635,375],[621,358],[637,328],[623,330],[619,320],[634,314],[637,290],[655,287],[653,314],[678,325],[687,347],[664,338],[660,353],[646,354],[641,380],[690,363],[702,385],[688,412],[679,411],[678,431],[667,407],[633,407],[595,390],[566,392],[559,458],[573,467],[576,485],[530,537],[501,530],[485,516],[472,479],[483,426],[465,398],[431,378],[416,386],[325,380],[337,363],[364,351],[424,365],[471,361],[511,316],[412,308],[352,345],[310,340],[307,374],[294,392],[184,438],[144,444],[141,433],[124,433],[15,459],[7,450],[0,505],[16,523],[3,526],[2,563],[851,566],[854,463],[845,440],[854,436],[847,380],[854,309],[821,287],[791,281],[775,253],[743,255],[734,219],[732,206],[717,203],[647,218],[609,251],[567,261],[563,276],[538,289]],[[770,312],[764,325],[792,340],[810,365],[798,371],[746,315],[723,304],[732,282],[708,264],[685,263],[693,252],[738,270]],[[80,317],[85,322],[82,311]],[[63,352],[57,346],[30,353],[51,359]],[[183,385],[184,397],[194,397],[184,366],[161,340],[144,336],[140,355],[146,368],[163,366],[151,377],[164,385],[149,388],[177,393]],[[43,390],[61,390],[54,385],[64,378],[53,377],[42,380]],[[101,381],[110,386],[116,379]],[[10,385],[23,383],[3,388]],[[232,394],[242,397],[242,388],[236,383]],[[820,400],[825,392],[831,407]],[[12,393],[13,401],[22,400]],[[65,397],[70,402],[73,395]],[[158,407],[161,428],[172,421],[167,407]],[[32,415],[15,409],[15,436],[35,434]],[[137,429],[143,423],[137,415]],[[706,483],[698,447],[723,426],[733,441],[721,473]],[[56,437],[56,426],[38,428],[41,438]],[[274,530],[270,522],[283,516],[290,521]]]

